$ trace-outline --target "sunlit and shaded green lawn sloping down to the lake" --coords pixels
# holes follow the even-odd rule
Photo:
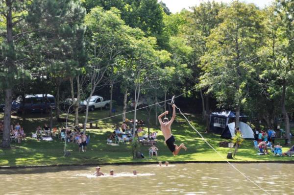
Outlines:
[[[147,115],[145,110],[138,112],[138,119],[146,121]],[[127,115],[127,118],[132,118],[132,113]],[[108,111],[96,110],[90,112],[90,121],[108,117]],[[154,124],[155,117],[151,122]],[[71,116],[71,119],[73,116]],[[12,143],[11,149],[0,149],[0,166],[37,166],[37,165],[71,165],[71,164],[101,164],[101,163],[128,163],[128,162],[152,162],[156,161],[148,159],[148,146],[141,146],[142,152],[145,154],[145,159],[133,159],[130,154],[129,144],[120,144],[120,146],[110,146],[106,144],[106,139],[110,132],[113,131],[112,126],[120,122],[121,116],[98,122],[99,129],[87,129],[87,134],[91,137],[90,146],[87,147],[87,152],[78,152],[78,145],[68,143],[67,149],[71,152],[71,157],[63,156],[64,141],[61,142],[57,138],[53,142],[37,141],[27,138],[21,144]],[[219,147],[219,142],[225,141],[219,135],[204,133],[200,117],[188,115],[188,119],[193,123],[197,130],[204,136],[205,139],[215,147],[223,157],[226,157],[230,148]],[[26,115],[25,119],[21,116],[13,116],[13,122],[20,122],[25,127],[27,135],[31,135],[30,131],[34,131],[36,126],[49,123],[47,115],[40,114]],[[83,116],[80,117],[80,122],[83,122]],[[54,126],[62,126],[64,124],[54,122]],[[178,156],[173,156],[167,146],[164,144],[158,126],[152,126],[151,132],[157,131],[157,147],[159,148],[158,155],[160,161],[224,161],[214,150],[212,150],[189,126],[189,124],[177,115],[175,122],[172,124],[172,133],[175,136],[176,143],[184,143],[187,151],[181,151]],[[147,130],[147,128],[145,128]],[[28,136],[28,137],[29,137]],[[283,142],[284,143],[284,142]],[[283,148],[283,151],[289,148]],[[238,150],[236,158],[231,161],[293,161],[293,157],[273,157],[270,155],[259,156],[257,150],[253,147],[252,140],[245,140],[244,144]]]

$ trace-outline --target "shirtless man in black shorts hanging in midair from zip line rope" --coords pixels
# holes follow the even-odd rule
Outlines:
[[[175,104],[172,104],[172,119],[171,119],[171,121],[169,121],[168,118],[164,118],[163,122],[162,122],[161,118],[167,114],[169,114],[169,111],[165,111],[164,113],[159,115],[158,121],[160,123],[160,129],[161,129],[162,134],[165,138],[165,142],[166,142],[167,146],[169,147],[169,149],[172,151],[172,154],[175,156],[179,153],[179,151],[182,148],[187,150],[187,147],[183,143],[180,146],[177,146],[174,144],[175,140],[174,140],[174,137],[171,132],[171,125],[172,125],[172,122],[175,118]]]

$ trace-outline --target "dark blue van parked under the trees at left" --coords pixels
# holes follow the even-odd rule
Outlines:
[[[55,109],[55,97],[50,94],[36,94],[36,95],[27,95],[25,96],[25,103],[23,100],[18,98],[12,102],[12,109],[17,112],[26,113],[29,112],[47,112],[52,109]]]

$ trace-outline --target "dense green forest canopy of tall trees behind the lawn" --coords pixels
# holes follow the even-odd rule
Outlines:
[[[180,13],[157,0],[0,1],[2,147],[18,96],[52,94],[56,108],[72,98],[78,124],[79,101],[93,95],[114,100],[109,112],[133,99],[136,119],[142,96],[157,115],[157,102],[182,93],[201,99],[206,121],[211,99],[235,110],[237,124],[240,111],[268,127],[282,117],[289,138],[294,1],[264,9],[213,1]]]

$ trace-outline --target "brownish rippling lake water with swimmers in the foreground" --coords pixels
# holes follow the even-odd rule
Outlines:
[[[294,194],[292,164],[234,165],[272,195]],[[93,176],[95,167],[86,166],[0,169],[0,195],[266,195],[228,164],[100,168],[106,176]]]

